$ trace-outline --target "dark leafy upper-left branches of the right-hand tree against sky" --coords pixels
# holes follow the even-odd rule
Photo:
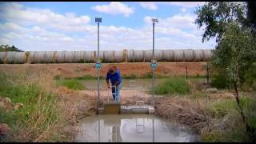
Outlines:
[[[238,2],[206,2],[205,5],[199,6],[196,10],[198,18],[195,23],[199,28],[206,26],[202,42],[215,37],[216,42],[219,42],[222,34],[226,31],[227,23],[237,22],[241,24],[245,22],[245,7]]]

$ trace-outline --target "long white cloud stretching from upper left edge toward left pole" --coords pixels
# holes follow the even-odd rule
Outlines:
[[[48,9],[37,9],[22,6],[18,3],[5,3],[1,6],[0,18],[8,22],[17,22],[22,26],[84,26],[90,22],[87,15],[56,14]]]

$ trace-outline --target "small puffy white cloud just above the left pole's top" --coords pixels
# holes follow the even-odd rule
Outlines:
[[[98,5],[92,7],[92,9],[107,14],[125,14],[126,17],[134,13],[133,7],[129,7],[122,2],[110,2],[109,5]]]

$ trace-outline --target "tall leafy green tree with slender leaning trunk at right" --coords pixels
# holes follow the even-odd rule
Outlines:
[[[239,89],[244,82],[246,71],[250,70],[256,59],[256,42],[249,26],[246,26],[246,6],[238,2],[206,2],[197,9],[196,24],[206,26],[202,42],[216,38],[211,64],[222,70],[226,82],[234,90],[239,113],[246,125],[250,141],[255,142],[255,127],[248,122],[243,110]]]

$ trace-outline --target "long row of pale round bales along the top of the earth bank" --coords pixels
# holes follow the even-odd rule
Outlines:
[[[155,50],[158,62],[203,62],[210,60],[211,50]],[[96,62],[97,51],[27,51],[0,52],[0,63],[86,63]],[[105,50],[99,52],[102,62],[150,62],[152,50]]]

